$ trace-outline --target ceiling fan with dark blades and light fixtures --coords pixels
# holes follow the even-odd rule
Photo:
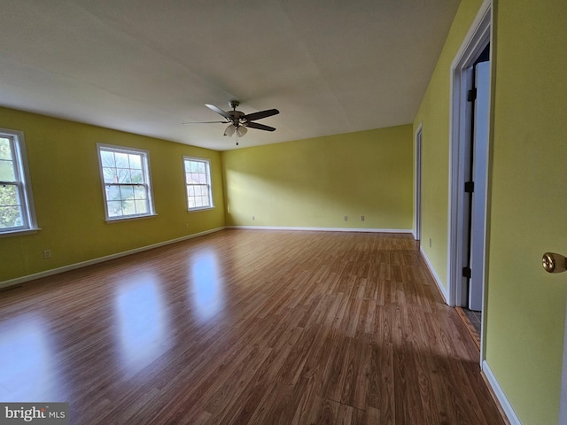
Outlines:
[[[258,122],[253,122],[255,120],[261,120],[262,118],[268,118],[272,115],[277,115],[280,113],[277,109],[268,109],[266,111],[252,112],[245,114],[244,112],[237,111],[237,107],[240,104],[238,100],[231,100],[229,102],[232,111],[226,112],[221,110],[218,106],[214,104],[206,104],[205,106],[211,111],[214,111],[221,115],[224,120],[222,121],[201,121],[201,122],[184,122],[183,124],[210,124],[210,123],[229,123],[229,127],[224,130],[224,135],[234,135],[237,137],[242,137],[248,131],[248,128],[256,128],[258,130],[265,131],[275,131],[276,128],[260,124]],[[237,142],[238,144],[238,142]]]

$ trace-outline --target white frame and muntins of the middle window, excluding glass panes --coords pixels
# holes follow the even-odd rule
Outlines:
[[[125,153],[130,155],[140,155],[142,157],[142,174],[144,175],[144,182],[143,183],[108,183],[105,182],[105,172],[103,169],[103,160],[101,156],[102,151],[112,151],[115,153]],[[136,149],[136,148],[129,148],[124,146],[116,146],[113,144],[105,144],[105,143],[97,143],[97,157],[98,157],[98,166],[100,170],[100,182],[102,184],[103,189],[103,198],[105,200],[105,220],[107,222],[113,221],[122,221],[122,220],[131,220],[131,219],[140,219],[145,217],[154,217],[157,214],[155,213],[155,208],[153,205],[153,192],[151,189],[151,174],[150,174],[150,152],[144,151],[143,149]],[[112,199],[107,198],[106,189],[109,186],[144,186],[147,193],[147,213],[134,213],[134,214],[126,214],[126,215],[111,215],[109,213],[109,202],[113,201]]]

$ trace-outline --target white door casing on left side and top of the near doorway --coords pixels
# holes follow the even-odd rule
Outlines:
[[[449,108],[449,202],[448,202],[448,232],[447,232],[447,294],[448,305],[460,305],[458,299],[457,285],[460,284],[462,276],[462,259],[460,247],[462,245],[462,203],[459,202],[459,191],[464,184],[462,174],[462,152],[459,146],[462,137],[465,136],[465,128],[461,112],[462,97],[466,96],[466,90],[462,85],[462,72],[465,68],[472,66],[474,61],[486,44],[492,43],[492,0],[485,0],[478,10],[478,14],[472,22],[467,35],[464,37],[461,47],[457,51],[451,64],[450,93],[451,107]],[[492,49],[491,49],[492,55]],[[492,59],[492,58],[491,58]],[[489,139],[490,140],[490,139]],[[486,213],[486,212],[485,212]],[[481,338],[482,339],[482,338]]]

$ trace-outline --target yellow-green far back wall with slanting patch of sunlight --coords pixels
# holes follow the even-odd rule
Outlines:
[[[225,151],[222,162],[230,226],[412,228],[411,125]]]

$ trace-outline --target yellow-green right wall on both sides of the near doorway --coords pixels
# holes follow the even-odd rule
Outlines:
[[[419,112],[423,241],[447,285],[450,66],[478,12],[462,0]],[[486,281],[486,362],[525,425],[558,423],[567,281],[540,266],[567,251],[567,4],[498,0]]]

